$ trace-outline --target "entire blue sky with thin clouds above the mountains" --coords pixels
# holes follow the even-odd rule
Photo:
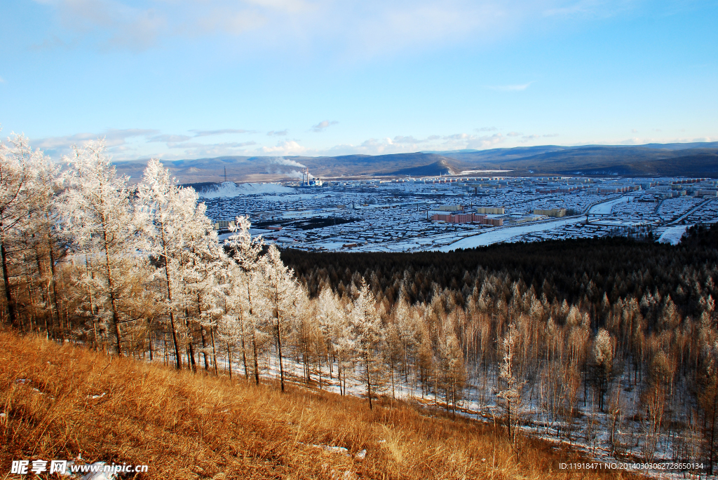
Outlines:
[[[52,156],[718,140],[718,1],[2,0],[0,126]]]

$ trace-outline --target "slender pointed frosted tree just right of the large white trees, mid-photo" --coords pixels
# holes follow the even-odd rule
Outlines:
[[[350,315],[350,327],[354,352],[362,370],[363,384],[366,387],[369,408],[373,408],[372,389],[376,393],[383,384],[381,378],[383,373],[381,369],[381,319],[376,315],[374,303],[374,295],[362,278],[359,296],[354,301]]]

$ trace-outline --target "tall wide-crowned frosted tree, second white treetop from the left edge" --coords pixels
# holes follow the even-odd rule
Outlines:
[[[83,280],[95,292],[95,310],[108,323],[122,354],[120,325],[132,321],[120,308],[120,299],[141,275],[139,234],[130,205],[128,177],[118,176],[103,141],[75,146],[65,161],[70,166],[62,196],[65,229],[73,238],[75,255],[89,266]]]

